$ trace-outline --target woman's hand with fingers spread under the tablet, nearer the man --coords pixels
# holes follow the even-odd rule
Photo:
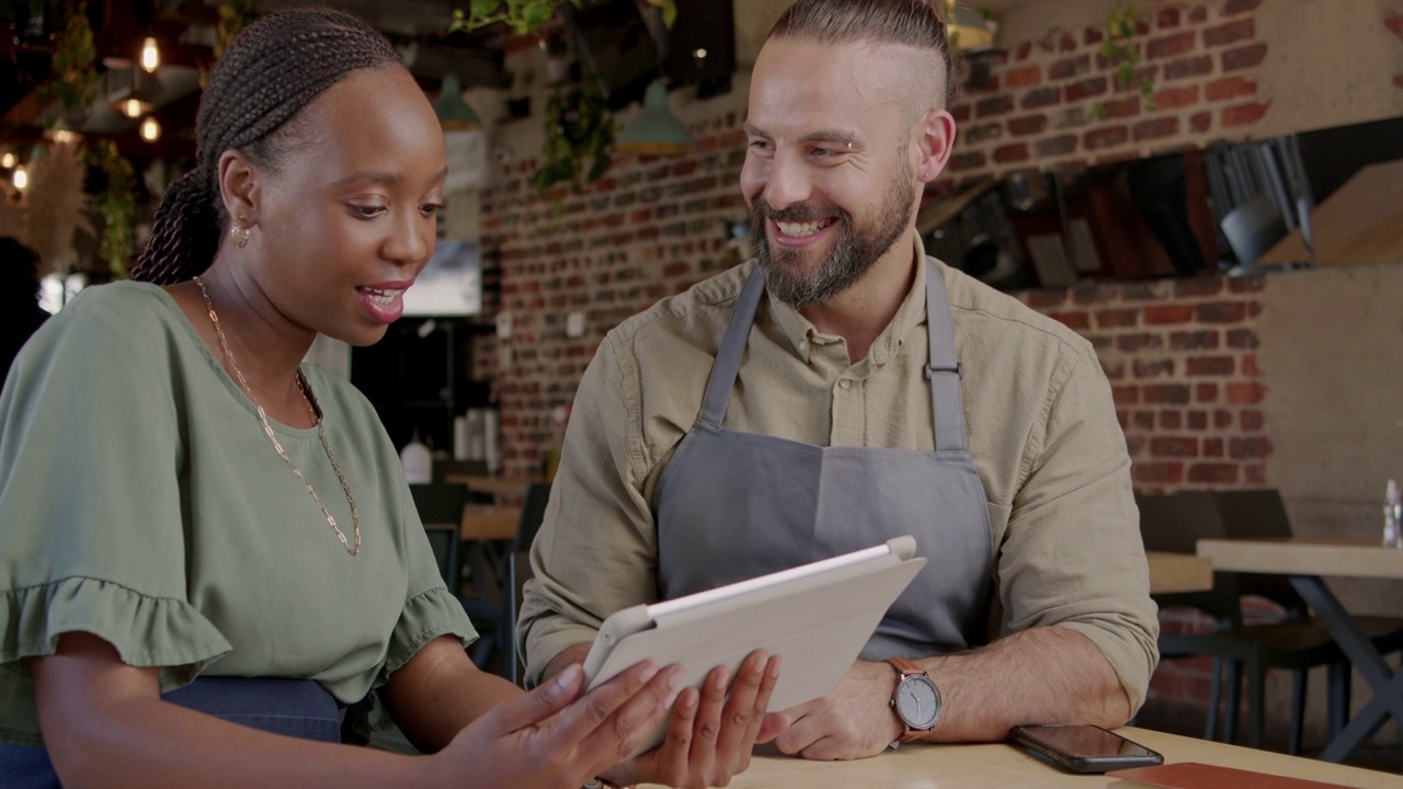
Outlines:
[[[603,775],[615,783],[725,786],[751,767],[756,743],[788,727],[786,716],[765,712],[779,677],[780,658],[756,650],[741,664],[727,698],[727,670],[713,668],[700,694],[687,688],[678,695],[661,745]]]

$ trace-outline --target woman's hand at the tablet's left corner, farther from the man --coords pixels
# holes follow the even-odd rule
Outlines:
[[[463,729],[431,757],[435,783],[577,789],[657,727],[680,679],[680,667],[640,663],[579,696],[584,672],[571,665]]]

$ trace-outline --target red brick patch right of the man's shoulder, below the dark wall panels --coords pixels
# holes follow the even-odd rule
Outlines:
[[[1020,298],[1087,337],[1111,380],[1135,486],[1264,486],[1263,278],[1089,284]]]

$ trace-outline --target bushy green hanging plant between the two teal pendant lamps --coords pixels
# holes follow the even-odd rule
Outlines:
[[[609,170],[613,133],[613,115],[593,86],[557,91],[546,104],[546,142],[536,188],[546,191],[561,181],[572,187],[579,187],[581,180],[598,181]]]

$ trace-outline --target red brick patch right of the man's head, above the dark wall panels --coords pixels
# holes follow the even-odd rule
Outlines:
[[[981,88],[951,105],[960,142],[955,180],[1027,167],[1096,164],[1242,139],[1271,111],[1257,72],[1270,45],[1253,13],[1261,0],[1150,7],[1134,46],[1139,73],[1153,80],[1146,105],[1121,88],[1100,49],[1101,25],[1061,27],[1007,46]]]

